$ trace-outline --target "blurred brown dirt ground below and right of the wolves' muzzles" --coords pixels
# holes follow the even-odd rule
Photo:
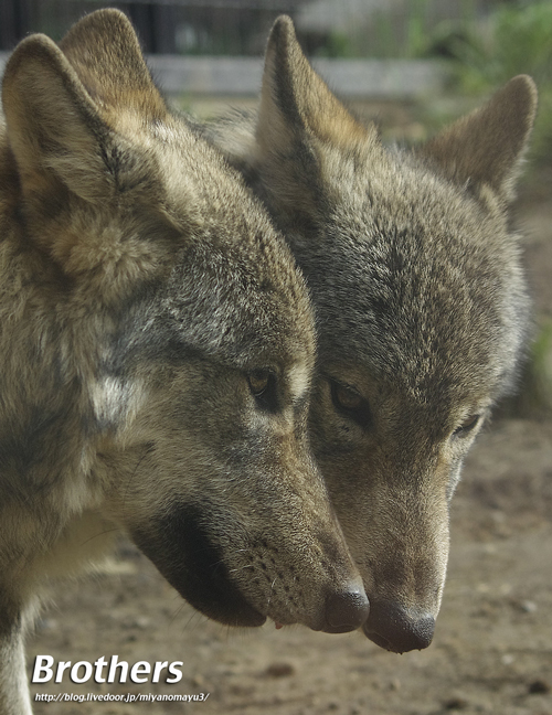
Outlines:
[[[527,262],[552,317],[552,205],[526,204]],[[34,657],[181,661],[176,684],[61,684],[34,694],[187,694],[191,703],[35,702],[38,715],[552,715],[552,421],[495,420],[452,510],[447,586],[433,644],[395,655],[360,633],[230,631],[183,604],[123,545],[96,577],[61,587],[29,643]],[[201,695],[203,694],[203,696]]]

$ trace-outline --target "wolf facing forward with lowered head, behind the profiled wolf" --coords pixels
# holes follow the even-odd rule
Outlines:
[[[390,651],[432,641],[461,463],[516,383],[529,300],[508,210],[535,106],[518,76],[425,145],[385,148],[282,17],[258,113],[198,129],[263,199],[307,278],[311,444],[370,600],[363,630]]]

